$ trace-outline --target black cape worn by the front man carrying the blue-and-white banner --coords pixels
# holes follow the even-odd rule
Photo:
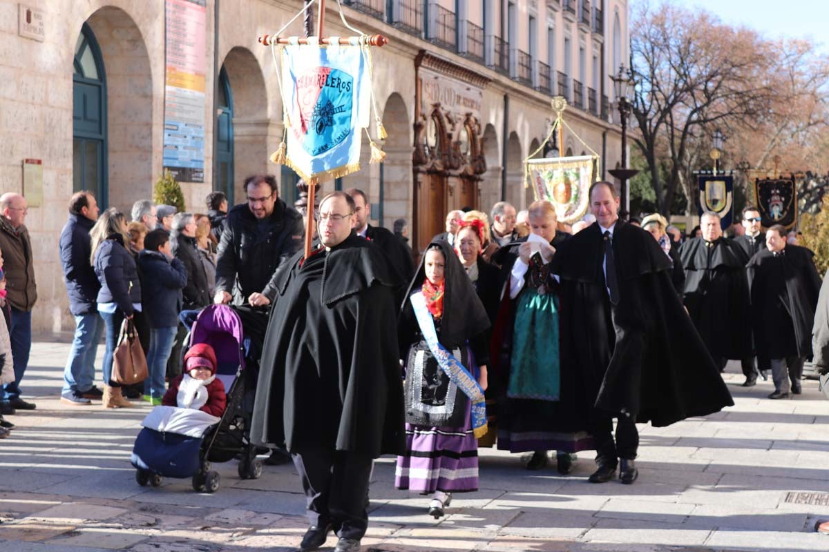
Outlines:
[[[291,452],[402,454],[395,274],[354,233],[288,262],[264,341],[250,440]]]

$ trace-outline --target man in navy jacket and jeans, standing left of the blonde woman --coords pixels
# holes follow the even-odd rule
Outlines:
[[[92,268],[90,230],[98,219],[98,202],[90,192],[81,191],[69,200],[69,221],[61,231],[60,251],[69,311],[75,316],[75,337],[63,370],[61,402],[90,405],[104,391],[95,386],[95,354],[104,331],[95,298],[100,289]]]

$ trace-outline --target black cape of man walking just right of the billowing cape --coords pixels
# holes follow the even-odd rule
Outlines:
[[[693,238],[679,248],[686,281],[683,301],[714,358],[749,358],[753,353],[749,281],[744,250],[720,238],[708,247]]]

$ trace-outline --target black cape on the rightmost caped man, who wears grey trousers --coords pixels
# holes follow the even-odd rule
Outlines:
[[[754,343],[765,358],[808,357],[821,278],[806,247],[783,252],[775,257],[764,249],[747,265]]]

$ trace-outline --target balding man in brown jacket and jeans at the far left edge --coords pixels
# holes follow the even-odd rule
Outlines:
[[[35,408],[34,404],[20,398],[20,381],[32,349],[32,309],[37,300],[32,240],[24,224],[27,212],[26,198],[21,194],[7,192],[0,195],[0,252],[6,275],[6,299],[12,310],[8,333],[14,358],[14,382],[3,386],[2,414],[13,414],[14,409]]]

